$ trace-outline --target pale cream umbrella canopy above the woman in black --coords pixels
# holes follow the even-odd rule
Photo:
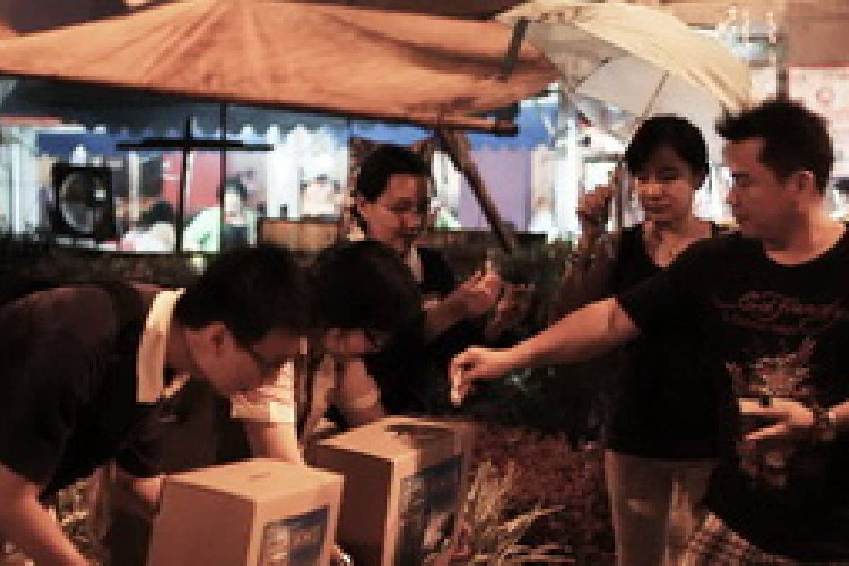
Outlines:
[[[614,128],[622,138],[649,115],[677,114],[700,126],[711,142],[722,111],[749,104],[745,62],[660,9],[531,0],[498,16],[509,23],[522,19],[529,22],[528,41],[557,65],[579,108],[582,98],[591,98],[630,116]],[[717,143],[710,145],[715,154]]]

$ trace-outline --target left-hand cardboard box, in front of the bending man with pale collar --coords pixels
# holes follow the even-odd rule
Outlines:
[[[248,460],[166,479],[149,566],[327,566],[338,474]]]

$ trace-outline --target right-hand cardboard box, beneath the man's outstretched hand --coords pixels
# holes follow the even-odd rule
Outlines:
[[[422,566],[453,542],[473,441],[462,423],[388,417],[323,440],[345,476],[336,541],[357,566]]]

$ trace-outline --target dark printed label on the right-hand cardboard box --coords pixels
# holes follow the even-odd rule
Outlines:
[[[451,543],[462,459],[449,458],[402,480],[395,566],[421,566]]]

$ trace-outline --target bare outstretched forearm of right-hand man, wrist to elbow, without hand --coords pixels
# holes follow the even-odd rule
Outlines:
[[[638,334],[614,299],[605,299],[554,322],[508,351],[514,367],[572,363],[598,356]]]

